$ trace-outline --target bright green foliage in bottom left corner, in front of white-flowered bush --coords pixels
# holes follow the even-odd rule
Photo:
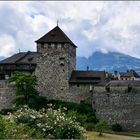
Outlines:
[[[8,121],[6,116],[0,116],[0,139],[43,138],[44,134],[30,128],[26,124]]]

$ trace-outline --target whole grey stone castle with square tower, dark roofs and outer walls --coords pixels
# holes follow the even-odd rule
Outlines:
[[[56,26],[35,41],[37,52],[20,52],[0,62],[0,109],[10,107],[13,71],[33,73],[48,99],[92,104],[98,118],[140,130],[140,81],[108,80],[105,71],[76,70],[77,46]]]

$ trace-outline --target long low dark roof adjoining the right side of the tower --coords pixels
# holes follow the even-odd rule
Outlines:
[[[105,79],[104,71],[73,71],[69,83],[98,84],[104,83]]]

